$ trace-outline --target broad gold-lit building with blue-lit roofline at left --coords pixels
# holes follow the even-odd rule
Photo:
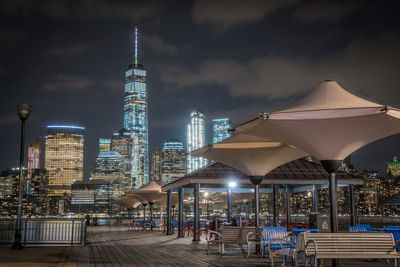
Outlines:
[[[55,195],[69,193],[74,181],[83,179],[83,127],[47,126],[45,169]]]

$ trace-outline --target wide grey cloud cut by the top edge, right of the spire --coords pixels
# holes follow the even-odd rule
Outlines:
[[[215,26],[225,31],[242,23],[256,22],[267,14],[288,7],[297,0],[197,0],[192,9],[193,19],[198,24]]]

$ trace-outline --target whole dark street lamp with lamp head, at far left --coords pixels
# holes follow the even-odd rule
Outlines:
[[[18,187],[18,209],[17,223],[15,226],[15,239],[11,248],[22,249],[21,243],[21,215],[22,215],[22,186],[23,186],[23,165],[24,165],[24,137],[25,137],[25,121],[28,119],[31,111],[31,106],[28,104],[18,105],[18,116],[21,119],[21,142],[19,154],[19,187]]]

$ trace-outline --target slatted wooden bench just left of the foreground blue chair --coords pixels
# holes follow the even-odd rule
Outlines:
[[[209,231],[206,236],[208,254],[211,246],[218,245],[219,252],[224,254],[225,245],[239,245],[243,251],[243,245],[247,245],[247,256],[250,251],[251,240],[249,237],[255,232],[254,227],[224,227],[220,232]]]

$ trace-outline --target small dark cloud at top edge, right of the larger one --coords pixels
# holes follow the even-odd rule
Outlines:
[[[296,9],[294,17],[304,22],[339,22],[360,7],[360,1],[309,1]]]

